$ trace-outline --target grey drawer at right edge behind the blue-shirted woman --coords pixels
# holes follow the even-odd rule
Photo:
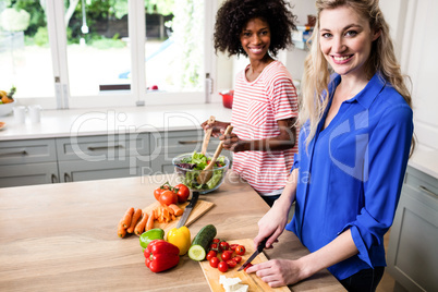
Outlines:
[[[406,186],[438,198],[438,180],[415,168],[407,167],[403,187]]]

